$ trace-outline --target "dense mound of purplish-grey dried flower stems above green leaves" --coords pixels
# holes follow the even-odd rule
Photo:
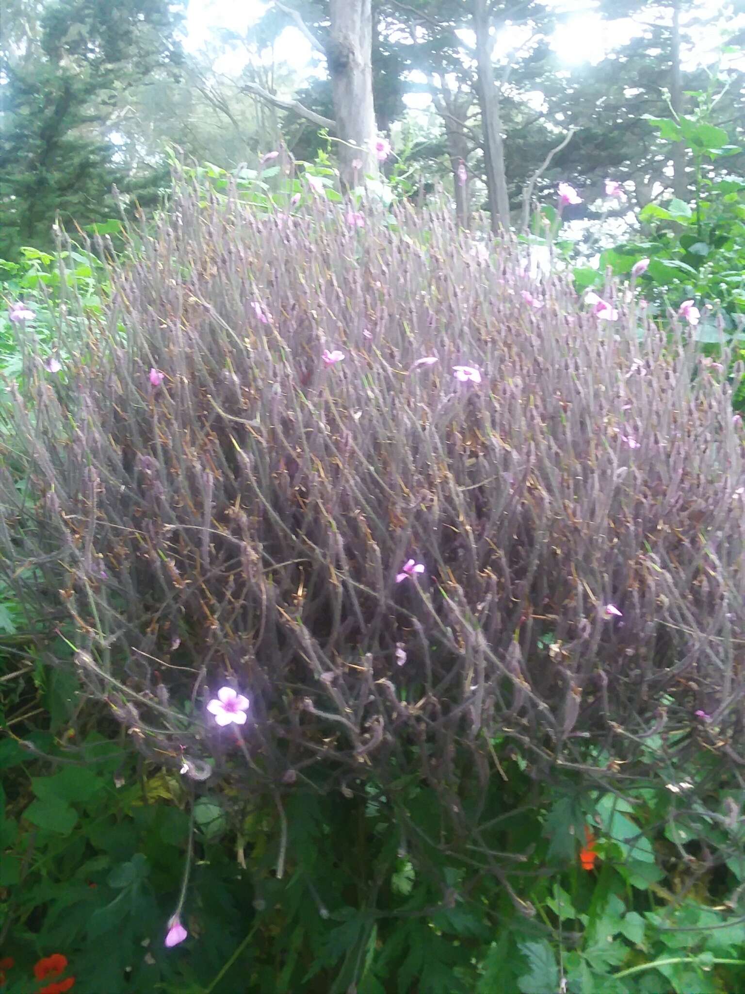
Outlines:
[[[251,789],[410,775],[441,839],[477,829],[500,755],[610,785],[661,732],[742,763],[726,384],[634,303],[599,321],[508,241],[395,220],[182,185],[62,379],[29,349],[6,577],[72,622],[87,694],[148,755],[219,774],[204,704],[232,682]],[[409,559],[424,573],[396,582]]]

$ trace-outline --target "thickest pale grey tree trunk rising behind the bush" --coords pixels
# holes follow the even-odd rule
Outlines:
[[[353,187],[377,172],[374,153],[372,0],[330,0],[331,38],[327,48],[339,137],[343,186]],[[362,170],[353,163],[360,160]]]

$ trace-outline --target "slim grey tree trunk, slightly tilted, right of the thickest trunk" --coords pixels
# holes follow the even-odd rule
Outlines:
[[[487,0],[473,0],[476,61],[479,67],[479,103],[484,128],[484,161],[487,190],[492,210],[492,231],[510,228],[510,198],[505,173],[505,145],[502,139],[500,93],[494,82],[490,18]]]

